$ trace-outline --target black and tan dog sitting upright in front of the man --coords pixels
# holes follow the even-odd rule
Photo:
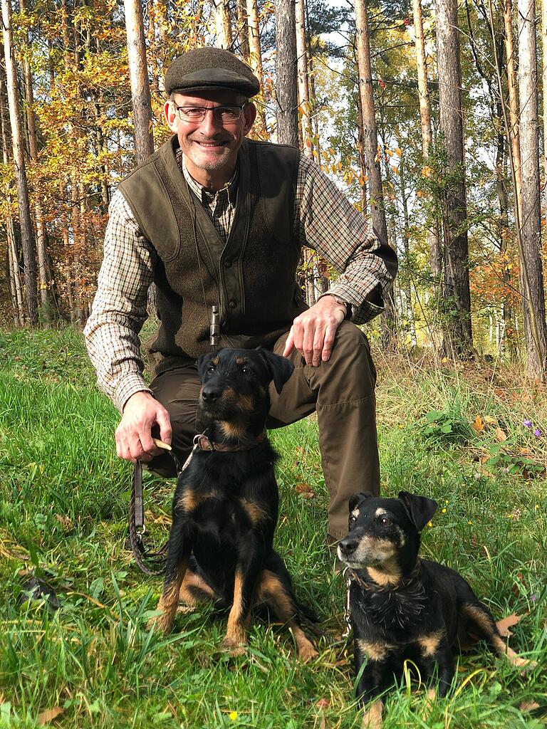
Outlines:
[[[313,613],[300,605],[282,558],[272,547],[279,509],[277,454],[265,437],[270,399],[292,374],[284,357],[263,349],[222,349],[198,360],[199,410],[206,436],[180,475],[173,502],[161,615],[171,630],[179,599],[212,599],[229,609],[223,642],[243,652],[253,607],[292,628],[301,660],[316,654],[300,627]]]

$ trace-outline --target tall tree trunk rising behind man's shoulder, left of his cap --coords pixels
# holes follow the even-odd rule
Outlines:
[[[142,4],[139,0],[124,0],[123,5],[125,7],[129,75],[133,101],[135,152],[137,163],[140,164],[154,151]]]

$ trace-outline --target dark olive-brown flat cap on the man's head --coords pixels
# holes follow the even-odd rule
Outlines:
[[[260,91],[260,83],[247,63],[222,48],[189,50],[167,69],[167,93],[211,89],[236,91],[250,98]]]

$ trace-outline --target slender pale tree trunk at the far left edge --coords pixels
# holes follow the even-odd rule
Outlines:
[[[9,0],[1,0],[2,23],[4,25],[4,57],[6,62],[7,99],[9,121],[12,127],[13,160],[17,179],[17,196],[19,203],[19,220],[21,243],[23,246],[25,269],[25,298],[28,319],[32,326],[38,323],[38,290],[36,280],[36,249],[31,222],[31,208],[28,202],[28,185],[26,181],[25,149],[21,133],[19,109],[19,89],[15,55],[12,42],[12,9]]]

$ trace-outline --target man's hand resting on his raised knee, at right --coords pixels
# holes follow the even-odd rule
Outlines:
[[[319,362],[327,362],[333,351],[334,335],[345,316],[344,304],[332,296],[322,297],[292,322],[283,356],[296,348],[306,364],[318,367]]]

